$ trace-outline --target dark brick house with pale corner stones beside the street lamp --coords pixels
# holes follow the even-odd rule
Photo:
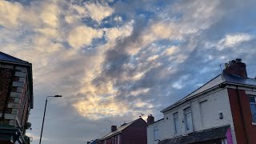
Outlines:
[[[0,52],[0,143],[29,143],[33,108],[32,65]]]

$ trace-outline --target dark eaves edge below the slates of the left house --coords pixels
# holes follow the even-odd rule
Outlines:
[[[29,78],[29,87],[30,87],[30,109],[34,108],[34,94],[33,94],[33,72],[32,72],[32,63],[30,62],[12,62],[12,61],[4,61],[0,60],[0,62],[18,65],[18,66],[26,66],[29,68],[28,70],[28,78]]]

